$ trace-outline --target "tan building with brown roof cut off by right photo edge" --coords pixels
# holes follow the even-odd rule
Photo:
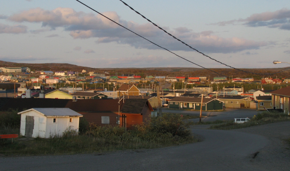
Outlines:
[[[285,114],[289,115],[290,86],[272,91],[271,93],[273,108],[282,109]]]

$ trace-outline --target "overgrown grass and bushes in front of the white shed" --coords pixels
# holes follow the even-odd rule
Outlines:
[[[125,149],[151,149],[197,142],[188,124],[178,115],[163,114],[146,124],[136,125],[133,130],[114,126],[90,125],[79,134],[67,129],[62,137],[33,141],[0,140],[0,154],[5,156],[86,154]],[[21,138],[21,137],[20,137]]]

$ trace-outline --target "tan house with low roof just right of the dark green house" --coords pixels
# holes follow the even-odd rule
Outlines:
[[[249,108],[252,99],[246,96],[227,96],[218,98],[223,101],[225,107],[229,108]]]

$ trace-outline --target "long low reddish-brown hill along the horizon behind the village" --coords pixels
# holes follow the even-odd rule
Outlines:
[[[34,70],[51,70],[51,71],[77,71],[82,70],[94,71],[95,73],[103,73],[108,71],[110,75],[121,75],[121,74],[135,74],[141,75],[141,77],[146,77],[146,75],[166,75],[166,76],[207,76],[210,78],[216,76],[228,76],[231,78],[255,78],[259,79],[262,77],[272,77],[272,78],[288,78],[290,77],[290,70],[287,69],[283,72],[277,73],[286,68],[242,68],[241,70],[258,73],[251,74],[240,70],[235,70],[232,68],[210,68],[210,70],[215,71],[214,73],[210,70],[203,68],[182,68],[182,67],[170,67],[170,68],[90,68],[78,65],[72,65],[68,63],[43,63],[43,64],[33,64],[33,63],[13,63],[0,61],[0,67],[29,67],[31,71]],[[269,73],[277,73],[269,75]]]

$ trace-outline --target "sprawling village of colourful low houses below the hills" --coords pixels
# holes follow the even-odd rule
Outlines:
[[[83,117],[91,124],[100,126],[112,125],[132,129],[135,124],[142,124],[146,119],[156,117],[162,108],[223,111],[225,108],[249,108],[257,111],[280,110],[289,114],[289,88],[265,90],[263,84],[283,85],[289,79],[263,78],[232,78],[214,77],[167,77],[141,76],[122,74],[121,76],[104,73],[74,71],[35,71],[30,68],[4,67],[0,68],[1,111],[17,108],[26,118],[35,108],[68,108],[66,126],[57,130],[60,134],[68,127],[78,129],[79,119],[72,121],[72,116]],[[210,84],[209,84],[210,83]],[[225,83],[233,86],[225,87]],[[244,83],[254,83],[257,88],[244,90]],[[219,88],[220,85],[220,88]],[[221,87],[223,85],[223,87]],[[217,89],[214,90],[213,88]],[[15,105],[17,104],[17,105]],[[34,109],[33,109],[34,108]],[[51,109],[50,109],[51,108]],[[28,110],[27,110],[28,109]],[[25,111],[25,112],[23,112]],[[39,112],[38,112],[39,113]],[[45,115],[45,114],[44,114]],[[25,121],[21,134],[28,137],[49,137],[51,132],[25,131]],[[39,116],[38,116],[39,117]],[[51,123],[61,123],[53,118]],[[38,119],[40,121],[40,119]],[[46,119],[45,119],[46,120]],[[71,123],[71,124],[70,124]],[[45,126],[42,126],[45,128]],[[46,133],[45,133],[46,132]]]

